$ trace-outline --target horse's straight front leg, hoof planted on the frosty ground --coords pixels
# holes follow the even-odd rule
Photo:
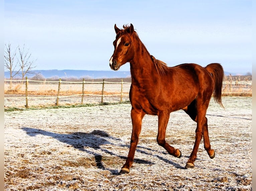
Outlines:
[[[126,162],[121,168],[120,173],[129,173],[130,167],[132,166],[135,150],[139,141],[139,134],[141,131],[141,123],[142,118],[144,117],[145,113],[142,110],[135,110],[132,108],[131,110],[131,118],[132,118],[132,136],[131,136],[131,143],[129,154],[127,156]]]

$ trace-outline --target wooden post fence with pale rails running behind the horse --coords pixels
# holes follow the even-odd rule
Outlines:
[[[68,82],[61,81],[61,79],[59,81],[37,81],[26,78],[26,80],[4,80],[4,83],[5,95],[7,95],[4,97],[5,101],[10,99],[15,104],[14,99],[25,99],[26,108],[29,107],[29,100],[39,98],[55,99],[55,105],[59,105],[59,100],[65,97],[78,96],[81,98],[81,104],[84,104],[85,96],[101,97],[101,103],[103,103],[104,97],[118,96],[119,101],[122,102],[124,96],[129,97],[131,85],[131,83],[123,82],[123,80],[121,82],[108,82],[104,79],[102,82],[88,82],[85,79],[80,82]],[[47,85],[51,87],[45,88]],[[115,87],[109,88],[108,85],[115,85]],[[118,85],[120,86],[118,87]],[[75,89],[71,90],[72,87]],[[224,81],[222,92],[223,95],[251,95],[252,81]],[[18,96],[8,96],[9,94],[17,94]]]

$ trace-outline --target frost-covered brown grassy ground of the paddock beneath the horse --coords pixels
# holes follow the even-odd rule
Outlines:
[[[130,104],[5,112],[5,190],[252,190],[252,97],[211,101],[209,135],[194,169],[184,169],[196,123],[172,112],[166,140],[156,143],[157,116],[143,119],[129,174],[119,174],[129,150]]]

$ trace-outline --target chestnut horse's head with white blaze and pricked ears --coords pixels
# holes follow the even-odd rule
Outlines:
[[[129,62],[133,58],[134,50],[132,48],[132,36],[134,32],[133,25],[123,26],[124,29],[117,28],[115,24],[116,40],[113,42],[114,53],[109,60],[109,66],[112,70],[118,70],[120,66]]]

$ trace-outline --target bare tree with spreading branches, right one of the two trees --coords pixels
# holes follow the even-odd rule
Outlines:
[[[19,50],[18,63],[19,63],[20,72],[21,72],[20,75],[22,80],[24,80],[24,77],[26,74],[36,74],[34,72],[31,72],[31,69],[36,67],[34,65],[36,60],[31,60],[30,58],[31,54],[28,53],[29,49],[25,49],[25,44],[23,44],[22,48],[18,45],[18,50]]]

